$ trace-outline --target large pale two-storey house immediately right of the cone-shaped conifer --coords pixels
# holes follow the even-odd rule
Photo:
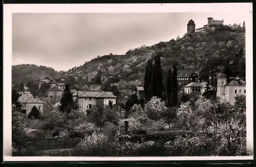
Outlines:
[[[80,112],[86,114],[87,109],[91,109],[93,105],[100,102],[104,105],[116,104],[117,97],[112,92],[101,92],[101,91],[86,91],[76,92],[73,96],[77,97],[77,103],[79,105]]]

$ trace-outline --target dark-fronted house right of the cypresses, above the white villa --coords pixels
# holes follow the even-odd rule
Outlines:
[[[190,82],[197,82],[198,75],[192,70],[180,70],[177,72],[177,81],[179,85],[189,84]]]

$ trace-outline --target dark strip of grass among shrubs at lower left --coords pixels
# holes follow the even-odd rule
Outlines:
[[[72,140],[57,140],[56,143],[55,141],[50,141],[49,146],[48,146],[48,141],[32,141],[29,142],[31,146],[35,146],[37,150],[53,150],[53,149],[68,149],[72,148],[76,144],[80,142],[81,138],[74,138],[74,141]]]

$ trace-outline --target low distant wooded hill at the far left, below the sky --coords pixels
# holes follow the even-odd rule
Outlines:
[[[19,86],[20,82],[32,81],[34,79],[44,79],[48,77],[60,77],[63,71],[55,71],[51,67],[22,64],[12,66],[12,84]]]

